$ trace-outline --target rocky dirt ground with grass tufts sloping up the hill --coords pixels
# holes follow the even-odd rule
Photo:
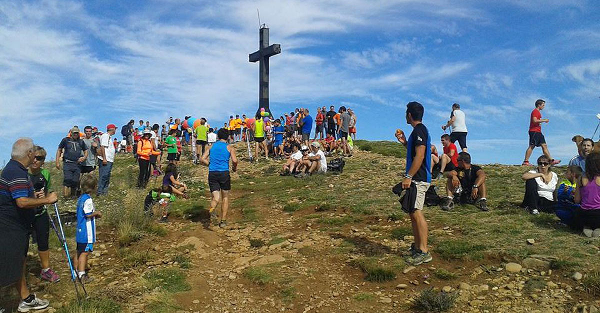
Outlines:
[[[123,227],[103,222],[89,262],[88,304],[73,302],[64,269],[59,284],[40,282],[35,270],[29,283],[52,301],[46,312],[411,312],[430,288],[456,294],[451,312],[600,308],[593,294],[599,242],[545,227],[556,223],[551,216],[538,221],[507,208],[522,194],[491,200],[491,213],[428,208],[434,260],[412,267],[402,258],[410,221],[390,192],[403,159],[356,152],[343,174],[307,179],[278,176],[278,166],[242,161],[225,228],[206,221],[206,168],[191,165],[182,171],[193,197],[178,200],[162,230],[123,244]],[[515,176],[517,168],[496,170]],[[130,197],[127,184],[113,184]],[[127,206],[127,197],[100,200],[98,208]],[[53,264],[62,266],[54,249]],[[36,262],[32,254],[29,266]],[[0,307],[13,309],[14,293],[2,292]]]

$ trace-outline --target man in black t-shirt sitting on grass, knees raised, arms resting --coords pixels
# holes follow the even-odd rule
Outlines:
[[[485,172],[481,167],[471,164],[471,155],[460,152],[457,158],[458,166],[446,172],[446,197],[442,198],[442,210],[454,208],[454,197],[461,204],[476,204],[480,210],[487,212],[487,185]]]

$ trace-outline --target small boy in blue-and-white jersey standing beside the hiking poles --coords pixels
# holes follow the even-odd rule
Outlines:
[[[96,218],[102,217],[102,212],[95,210],[91,194],[93,194],[98,185],[96,176],[86,174],[81,179],[82,195],[77,200],[77,233],[75,240],[77,242],[77,254],[75,257],[75,267],[77,276],[85,284],[91,281],[85,272],[85,266],[88,263],[89,254],[94,251],[96,242]]]

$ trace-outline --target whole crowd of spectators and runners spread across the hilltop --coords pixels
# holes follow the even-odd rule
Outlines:
[[[400,196],[401,207],[410,216],[415,241],[406,261],[416,266],[433,260],[428,251],[428,225],[423,214],[428,196],[433,193],[442,210],[454,209],[455,203],[474,204],[484,212],[490,208],[487,175],[482,167],[472,164],[467,148],[466,115],[460,104],[452,104],[449,119],[442,125],[441,154],[422,123],[424,107],[417,102],[410,102],[406,107],[406,122],[413,130],[408,137],[400,129],[395,132],[398,142],[406,146],[407,157],[404,179],[393,191]],[[559,183],[552,168],[560,161],[550,157],[541,133],[541,124],[548,122],[541,116],[544,107],[545,101],[537,100],[530,115],[529,147],[522,165],[531,165],[528,160],[536,147],[541,147],[544,154],[538,158],[537,167],[523,174],[522,206],[532,214],[555,213],[563,224],[583,230],[586,236],[600,237],[600,154],[594,152],[593,140],[575,136],[578,155],[571,159]],[[132,155],[136,159],[139,165],[137,188],[147,189],[152,176],[163,176],[161,183],[157,185],[155,180],[154,186],[149,188],[143,203],[146,214],[158,213],[161,222],[168,221],[169,203],[177,198],[189,198],[187,185],[178,173],[179,162],[187,161],[182,155],[188,154],[194,164],[208,166],[209,212],[217,225],[226,227],[230,171],[236,171],[239,162],[232,143],[242,142],[241,146],[245,146],[253,162],[258,162],[262,155],[266,160],[285,160],[282,175],[324,174],[328,170],[328,157],[336,153],[352,157],[356,122],[351,109],[340,106],[336,111],[331,106],[329,110],[317,108],[314,118],[305,108],[280,118],[272,118],[271,112],[264,109],[252,118],[231,115],[221,128],[211,127],[205,118],[196,120],[191,116],[183,120],[169,118],[163,125],[140,120],[136,126],[132,119],[121,127],[121,140],[116,138],[118,127],[114,124],[107,125],[104,132],[86,126],[83,134],[74,126],[58,145],[55,166],[63,173],[63,197],[78,198],[74,255],[77,278],[84,284],[91,280],[85,271],[86,262],[94,251],[95,219],[102,217],[93,199],[109,194],[116,154]],[[448,129],[450,134],[446,133]],[[50,192],[55,182],[50,171],[43,168],[46,157],[46,150],[35,146],[31,139],[19,139],[13,145],[11,161],[0,176],[0,285],[16,283],[22,298],[20,312],[45,308],[49,303],[35,297],[26,284],[24,264],[30,233],[35,234],[41,279],[49,282],[60,279],[50,266],[48,242],[52,219],[46,206],[56,203],[58,196]],[[443,182],[442,197],[431,185],[434,179]]]

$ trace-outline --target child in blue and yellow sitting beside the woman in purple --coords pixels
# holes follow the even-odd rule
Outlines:
[[[577,182],[581,179],[581,167],[569,165],[565,173],[566,179],[560,182],[556,189],[556,216],[560,218],[560,222],[570,227],[574,227],[574,216],[579,209],[579,205],[575,204],[575,188]]]

